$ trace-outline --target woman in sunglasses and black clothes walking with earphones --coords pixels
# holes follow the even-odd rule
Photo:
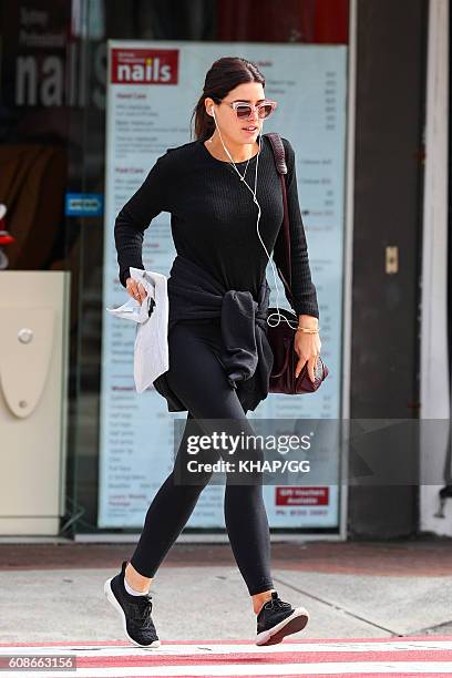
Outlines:
[[[261,337],[269,290],[265,271],[284,210],[273,148],[261,134],[264,120],[277,104],[266,100],[264,86],[265,79],[253,62],[215,61],[194,111],[196,140],[158,157],[115,222],[120,280],[142,302],[146,292],[130,276],[130,267],[144,268],[143,234],[151,220],[161,212],[172,215],[177,256],[168,279],[170,369],[154,386],[167,399],[170,411],[187,411],[174,470],[148,507],[132,557],[104,585],[127,638],[141,647],[160,646],[150,586],[212,476],[203,472],[196,475],[197,484],[176,482],[176,473],[193,459],[187,452],[188,424],[192,435],[195,431],[209,434],[214,431],[210,420],[227,420],[228,433],[253,435],[246,413],[268,392],[269,345]],[[288,140],[282,137],[282,143],[295,311],[299,327],[317,330],[296,332],[296,374],[307,362],[314,381],[320,352],[319,311],[298,204],[295,153]],[[249,322],[257,345],[257,356],[255,351],[251,357],[242,341],[250,336]],[[235,347],[234,351],[226,351],[225,345]],[[261,459],[261,451],[247,450],[247,459]],[[220,451],[217,458],[222,456],[230,460],[227,451]],[[212,449],[196,455],[197,462],[215,460]],[[226,474],[224,515],[257,616],[256,644],[280,643],[306,626],[308,613],[282,602],[274,588],[261,482],[238,483]]]

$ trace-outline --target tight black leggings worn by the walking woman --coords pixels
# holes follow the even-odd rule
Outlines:
[[[237,434],[254,435],[236,390],[229,384],[218,360],[220,347],[219,320],[210,322],[178,322],[168,335],[171,388],[187,408],[189,434],[195,428],[199,434],[209,434],[208,422],[197,419],[236,420]],[[233,422],[234,424],[235,422]],[[202,427],[202,428],[201,428]],[[214,430],[214,429],[213,429]],[[218,430],[218,429],[215,429]],[[228,430],[229,432],[229,430]],[[155,494],[147,510],[143,532],[131,558],[134,568],[145,577],[153,577],[183,527],[192,515],[201,492],[212,473],[196,473],[197,484],[175,481],[175,469],[186,465],[188,459],[213,462],[223,456],[230,461],[227,451],[201,451],[196,458],[187,454],[186,429],[182,438],[174,469]],[[249,456],[247,451],[246,459]],[[215,456],[216,455],[216,456]],[[237,451],[235,456],[237,456]],[[258,452],[256,451],[256,458]],[[237,476],[235,476],[237,479]],[[228,482],[226,474],[225,524],[237,566],[249,595],[274,588],[270,574],[270,534],[260,483],[237,484]]]

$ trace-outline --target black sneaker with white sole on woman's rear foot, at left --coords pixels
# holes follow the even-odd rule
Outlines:
[[[104,593],[113,607],[120,613],[125,635],[138,647],[160,647],[157,631],[151,617],[152,596],[132,596],[125,590],[124,575],[127,561],[121,572],[104,584]]]

